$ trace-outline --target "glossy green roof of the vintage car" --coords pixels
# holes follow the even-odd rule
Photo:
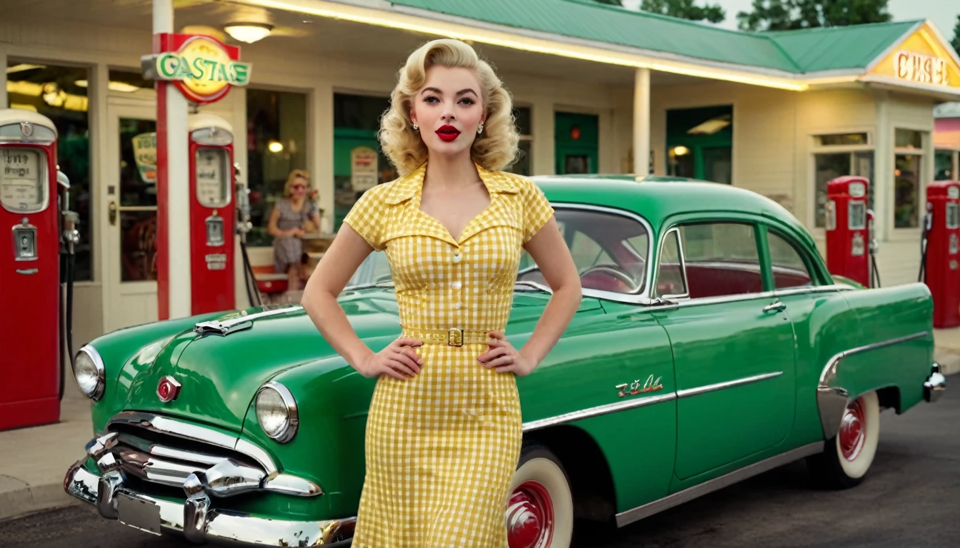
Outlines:
[[[788,209],[753,190],[700,179],[633,175],[543,175],[530,178],[554,203],[588,203],[635,212],[655,229],[664,219],[692,212],[752,212],[809,236]],[[588,191],[588,192],[585,192]]]

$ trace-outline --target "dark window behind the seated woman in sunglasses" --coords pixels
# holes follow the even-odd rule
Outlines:
[[[267,223],[283,185],[295,169],[307,169],[306,94],[247,90],[247,181],[253,229],[250,246],[270,246]]]

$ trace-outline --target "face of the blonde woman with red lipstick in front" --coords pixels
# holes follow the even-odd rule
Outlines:
[[[431,66],[426,82],[413,97],[410,118],[431,153],[458,155],[469,151],[477,127],[486,117],[480,81],[468,68]]]

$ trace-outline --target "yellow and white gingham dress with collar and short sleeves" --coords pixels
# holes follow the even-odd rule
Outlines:
[[[426,164],[368,190],[344,220],[386,250],[403,336],[506,326],[522,245],[553,208],[529,179],[476,168],[491,204],[459,241],[420,211]],[[483,341],[424,343],[419,375],[377,380],[354,548],[507,548],[520,404],[514,373],[477,361]]]

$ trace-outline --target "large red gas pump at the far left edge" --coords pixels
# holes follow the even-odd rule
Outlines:
[[[0,430],[60,419],[79,232],[57,138],[46,116],[0,109]]]

